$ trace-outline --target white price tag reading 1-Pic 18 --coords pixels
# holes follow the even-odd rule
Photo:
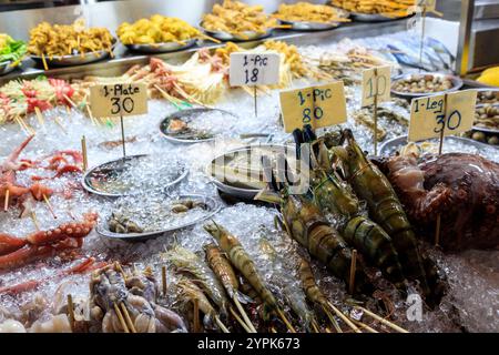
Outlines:
[[[277,84],[279,62],[281,57],[277,53],[231,53],[231,87]]]

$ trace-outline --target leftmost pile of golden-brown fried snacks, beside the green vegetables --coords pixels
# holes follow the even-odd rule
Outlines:
[[[30,31],[29,53],[39,57],[74,55],[105,50],[111,52],[113,37],[105,28],[85,29],[83,20],[73,24],[42,22]]]

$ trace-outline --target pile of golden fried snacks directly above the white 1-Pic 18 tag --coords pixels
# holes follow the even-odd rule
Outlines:
[[[203,16],[203,28],[241,34],[246,31],[265,33],[278,26],[277,20],[265,14],[262,6],[247,6],[240,1],[225,0],[215,3],[212,13]]]

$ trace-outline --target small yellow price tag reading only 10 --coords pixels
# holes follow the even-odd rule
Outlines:
[[[363,108],[374,104],[375,95],[378,103],[390,101],[391,68],[378,67],[363,71]]]

